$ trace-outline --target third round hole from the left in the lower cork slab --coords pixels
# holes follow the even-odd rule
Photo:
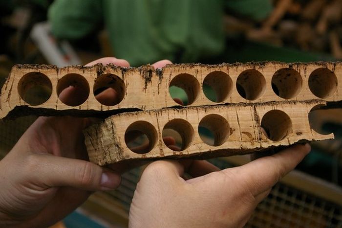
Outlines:
[[[228,121],[218,114],[206,115],[199,122],[198,134],[206,144],[220,146],[229,137]]]

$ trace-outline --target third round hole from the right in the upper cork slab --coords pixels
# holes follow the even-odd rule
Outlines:
[[[236,80],[237,92],[247,100],[256,100],[266,90],[265,77],[256,69],[247,69]]]

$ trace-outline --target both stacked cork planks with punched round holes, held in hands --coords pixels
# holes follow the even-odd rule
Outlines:
[[[308,114],[339,105],[341,77],[340,62],[176,64],[162,69],[17,65],[1,91],[0,118],[107,117],[85,130],[89,159],[100,165],[246,154],[333,138],[312,130]],[[60,94],[70,86],[80,91],[78,99],[63,103]],[[174,97],[171,87],[184,91],[187,99]],[[98,99],[108,88],[115,99]]]

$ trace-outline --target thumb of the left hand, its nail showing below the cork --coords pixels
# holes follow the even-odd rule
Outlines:
[[[49,154],[31,155],[31,172],[43,187],[75,187],[83,190],[112,190],[121,182],[121,176],[85,160],[69,159]]]

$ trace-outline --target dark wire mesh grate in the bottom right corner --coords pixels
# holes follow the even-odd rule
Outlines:
[[[342,207],[278,183],[246,228],[342,228]]]

